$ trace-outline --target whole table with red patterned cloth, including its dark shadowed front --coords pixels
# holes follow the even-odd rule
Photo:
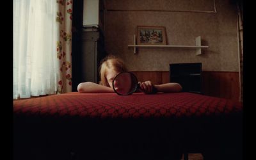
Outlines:
[[[63,93],[13,101],[14,159],[241,158],[243,104],[196,93]]]

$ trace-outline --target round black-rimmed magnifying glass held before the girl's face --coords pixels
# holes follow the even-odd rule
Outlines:
[[[140,89],[137,77],[132,72],[120,72],[116,75],[112,82],[113,90],[118,95],[131,95]],[[152,93],[157,93],[156,87],[153,86]]]

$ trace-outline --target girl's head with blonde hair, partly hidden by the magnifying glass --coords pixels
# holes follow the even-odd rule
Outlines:
[[[127,71],[124,61],[113,55],[107,56],[102,60],[99,67],[100,84],[112,87],[112,81],[119,72]]]

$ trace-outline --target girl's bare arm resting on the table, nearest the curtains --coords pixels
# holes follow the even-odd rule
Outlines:
[[[108,86],[102,86],[97,83],[84,82],[77,86],[77,91],[79,93],[113,93],[113,88]]]

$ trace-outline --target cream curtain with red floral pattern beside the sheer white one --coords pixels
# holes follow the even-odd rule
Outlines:
[[[72,0],[57,0],[56,20],[59,25],[57,55],[58,90],[57,93],[72,92]]]

